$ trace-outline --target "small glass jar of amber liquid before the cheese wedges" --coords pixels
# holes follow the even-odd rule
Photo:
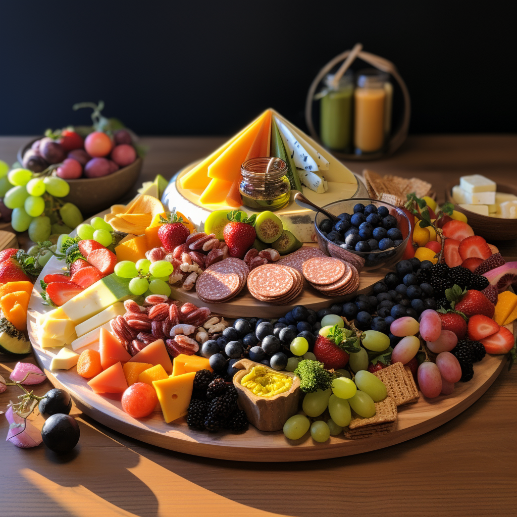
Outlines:
[[[241,165],[240,173],[243,205],[273,211],[289,203],[291,184],[286,176],[287,164],[282,159],[251,158]]]

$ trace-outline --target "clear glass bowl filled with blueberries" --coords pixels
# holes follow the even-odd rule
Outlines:
[[[318,246],[325,254],[364,270],[390,267],[401,260],[409,239],[409,219],[401,208],[357,197],[323,208],[338,217],[332,222],[317,212],[314,218]]]

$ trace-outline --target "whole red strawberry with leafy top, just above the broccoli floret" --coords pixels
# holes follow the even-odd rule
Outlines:
[[[354,331],[334,325],[327,336],[318,334],[312,353],[327,370],[339,370],[348,364],[349,352],[359,352],[356,342]]]

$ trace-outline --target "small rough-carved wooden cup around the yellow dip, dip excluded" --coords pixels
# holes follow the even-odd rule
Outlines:
[[[280,431],[284,427],[285,421],[298,413],[300,379],[290,372],[277,372],[268,368],[272,372],[293,377],[293,384],[289,391],[284,393],[273,397],[259,397],[240,384],[242,377],[254,366],[264,366],[264,364],[241,359],[233,365],[234,368],[242,368],[233,376],[233,385],[239,394],[239,406],[244,409],[248,420],[259,431]]]

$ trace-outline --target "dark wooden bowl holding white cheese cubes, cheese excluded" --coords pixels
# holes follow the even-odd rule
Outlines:
[[[461,206],[455,203],[452,197],[452,187],[454,187],[454,185],[458,185],[457,181],[452,181],[447,185],[445,199],[454,204],[454,210],[465,214],[468,224],[472,226],[476,235],[481,235],[481,237],[484,237],[488,242],[492,240],[517,239],[517,219],[500,219],[499,217],[482,216],[476,214],[476,212],[461,208]],[[497,185],[497,192],[517,195],[517,188],[510,185]]]

